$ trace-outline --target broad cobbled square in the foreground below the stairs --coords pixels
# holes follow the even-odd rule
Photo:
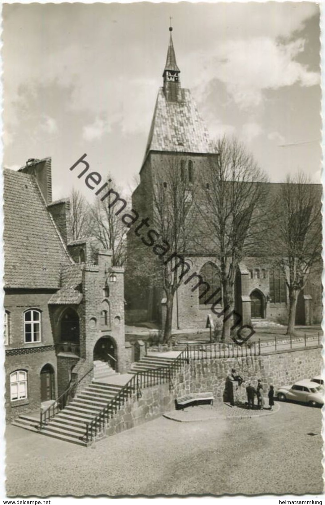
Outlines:
[[[321,411],[177,423],[160,417],[84,448],[7,428],[9,496],[320,494]],[[310,433],[314,433],[312,436]]]

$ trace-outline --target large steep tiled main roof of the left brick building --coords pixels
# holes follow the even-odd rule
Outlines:
[[[58,288],[68,251],[35,177],[4,170],[5,287]]]

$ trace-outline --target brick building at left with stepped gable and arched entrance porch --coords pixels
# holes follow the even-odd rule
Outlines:
[[[70,241],[70,202],[52,202],[49,158],[4,170],[4,216],[11,421],[83,376],[80,387],[90,382],[94,360],[124,371],[124,272],[112,267],[111,252],[98,251],[94,264],[87,239]]]

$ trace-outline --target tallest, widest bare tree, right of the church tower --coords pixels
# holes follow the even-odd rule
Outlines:
[[[234,283],[239,263],[263,249],[269,222],[265,212],[266,177],[235,137],[218,140],[203,175],[205,221],[200,244],[216,256],[221,281],[222,339],[230,336]],[[264,232],[264,233],[263,233]],[[216,252],[215,252],[216,251]],[[216,303],[218,303],[216,302]]]

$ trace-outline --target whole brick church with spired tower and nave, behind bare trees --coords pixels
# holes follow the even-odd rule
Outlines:
[[[170,31],[172,32],[172,29]],[[192,199],[200,205],[199,202],[203,201],[200,199],[202,174],[211,157],[218,155],[190,90],[181,87],[179,74],[172,33],[170,33],[163,87],[158,90],[144,161],[140,170],[140,183],[132,195],[133,209],[142,216],[148,217],[150,223],[153,222],[153,188],[157,184],[157,174],[163,174],[171,163],[175,165],[175,170],[183,170]],[[268,197],[275,198],[279,194],[281,185],[267,183],[267,186]],[[314,185],[314,191],[315,197],[320,199],[321,186]],[[197,218],[193,227],[194,225],[203,227],[203,219],[201,221]],[[218,269],[215,268],[218,254],[212,248],[208,251],[208,235],[205,239],[204,244],[202,242],[189,246],[186,260],[190,261],[192,272],[199,273],[204,280],[208,280],[210,285],[216,287],[220,285],[216,280]],[[129,232],[129,256],[135,248],[143,250],[140,258],[143,261],[143,285],[146,286],[147,281],[147,288],[137,290],[132,273],[128,275],[127,272],[126,297],[129,320],[131,322],[135,318],[146,318],[149,321],[159,320],[164,324],[164,292],[161,287],[152,286],[152,273],[147,267],[150,263],[146,263],[146,255],[152,255],[152,251],[143,248],[134,233]],[[191,288],[191,283],[187,285],[182,283],[176,292],[173,306],[174,328],[204,328],[208,314],[215,319],[210,311],[210,304],[204,304],[204,297],[199,299],[199,289],[193,292]],[[255,249],[251,257],[245,258],[240,263],[235,283],[235,309],[241,314],[244,324],[250,324],[252,320],[257,319],[285,323],[289,308],[287,291],[280,271],[275,271],[270,259],[261,256]],[[221,306],[220,310],[222,311]],[[310,275],[307,285],[299,295],[296,321],[299,324],[321,321],[319,272]]]

